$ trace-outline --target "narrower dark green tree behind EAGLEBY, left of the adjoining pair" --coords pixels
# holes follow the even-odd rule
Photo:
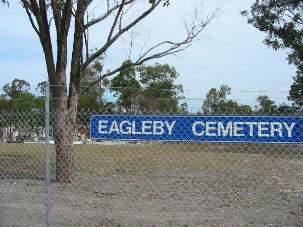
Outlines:
[[[131,64],[131,61],[127,60],[122,64],[122,67],[129,64]],[[111,80],[110,90],[114,92],[115,97],[118,97],[118,106],[127,112],[136,110],[136,98],[140,94],[141,85],[136,79],[135,68],[128,67],[120,71],[120,73]]]

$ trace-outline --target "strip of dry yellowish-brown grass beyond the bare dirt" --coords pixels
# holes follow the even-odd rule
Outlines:
[[[295,190],[302,179],[303,152],[298,145],[153,143],[127,145],[75,145],[76,172],[119,174],[120,170],[159,167],[166,170],[206,171],[222,177],[237,172],[243,187],[256,182],[280,190]],[[44,176],[44,146],[41,144],[0,144],[0,176]],[[52,175],[55,146],[51,146]],[[120,172],[120,174],[131,174]],[[276,186],[275,186],[276,185]],[[291,188],[292,187],[292,188]]]

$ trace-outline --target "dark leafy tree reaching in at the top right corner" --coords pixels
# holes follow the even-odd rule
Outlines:
[[[267,34],[264,43],[275,50],[288,51],[288,63],[297,67],[288,98],[302,106],[303,101],[303,1],[256,0],[250,12],[241,14],[248,23]]]

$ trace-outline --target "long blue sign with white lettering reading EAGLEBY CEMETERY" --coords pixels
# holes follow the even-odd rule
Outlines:
[[[90,138],[179,142],[302,143],[300,116],[92,115]]]

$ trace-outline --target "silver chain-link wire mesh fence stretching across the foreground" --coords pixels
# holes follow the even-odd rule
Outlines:
[[[51,111],[48,128],[47,108],[0,113],[0,225],[44,225],[46,220],[54,226],[303,223],[303,146],[300,142],[284,143],[277,131],[279,125],[274,126],[273,136],[283,143],[231,143],[220,139],[163,142],[161,135],[151,141],[149,134],[143,140],[131,134],[125,134],[123,140],[90,139],[90,116],[96,113],[110,120],[104,112],[81,111],[73,116]],[[146,121],[150,121],[146,116],[162,121],[160,116],[166,114],[172,112],[144,112],[140,116]],[[112,115],[120,121],[125,116],[134,117],[125,112]],[[269,117],[229,116],[236,117],[237,122],[247,122],[248,116],[266,122]],[[182,121],[200,117],[185,115]],[[289,117],[298,124],[302,120],[295,113],[276,113],[274,117]],[[209,118],[224,122],[222,115]],[[123,132],[127,126],[131,125],[122,126]],[[108,129],[111,127],[108,125]],[[180,127],[178,133],[188,136],[183,129]],[[200,130],[198,134],[202,132],[195,129]],[[115,130],[121,129],[113,126]],[[281,128],[281,133],[287,135],[287,129]],[[301,131],[296,133],[302,136]],[[48,149],[46,156],[44,152],[47,141],[49,169]],[[72,180],[64,182],[66,178]],[[46,196],[47,184],[50,196]],[[46,210],[45,199],[50,200],[52,209]]]

